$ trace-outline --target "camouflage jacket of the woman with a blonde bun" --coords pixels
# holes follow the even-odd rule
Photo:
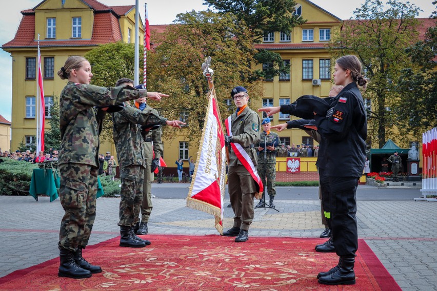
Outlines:
[[[61,146],[58,164],[81,163],[99,167],[99,127],[94,106],[109,106],[146,97],[146,90],[105,88],[68,82],[59,97]]]

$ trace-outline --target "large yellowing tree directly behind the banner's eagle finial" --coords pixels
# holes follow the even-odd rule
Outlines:
[[[246,33],[244,33],[246,32]],[[240,34],[240,37],[234,37]],[[206,56],[212,58],[214,85],[222,117],[234,111],[230,90],[244,86],[252,98],[263,96],[262,82],[251,70],[253,38],[248,27],[231,14],[191,11],[178,14],[174,25],[160,35],[152,35],[160,45],[147,56],[148,89],[171,97],[151,101],[152,107],[169,119],[182,118],[188,124],[187,134],[194,140],[201,136],[207,107],[208,84],[202,74]],[[230,101],[230,106],[226,102]],[[174,130],[164,128],[165,131]]]

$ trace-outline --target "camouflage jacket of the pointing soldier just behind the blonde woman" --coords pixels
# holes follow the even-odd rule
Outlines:
[[[146,151],[141,136],[141,126],[165,124],[166,121],[167,118],[154,114],[147,108],[141,111],[130,105],[126,105],[121,111],[112,113],[112,133],[120,169],[129,165],[146,166]]]

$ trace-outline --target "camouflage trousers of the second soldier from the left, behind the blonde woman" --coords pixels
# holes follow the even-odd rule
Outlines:
[[[140,218],[143,202],[144,167],[129,165],[120,170],[122,190],[120,192],[120,226],[134,226]]]

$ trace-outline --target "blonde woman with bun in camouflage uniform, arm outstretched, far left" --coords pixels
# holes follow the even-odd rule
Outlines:
[[[57,74],[61,79],[68,79],[59,97],[59,200],[65,215],[59,230],[61,264],[58,276],[89,278],[91,273],[102,272],[100,266],[93,266],[82,257],[82,249],[88,244],[95,218],[99,167],[98,133],[102,123],[93,107],[114,106],[146,95],[158,100],[161,95],[129,87],[89,85],[93,76],[91,66],[81,56],[70,56]]]

